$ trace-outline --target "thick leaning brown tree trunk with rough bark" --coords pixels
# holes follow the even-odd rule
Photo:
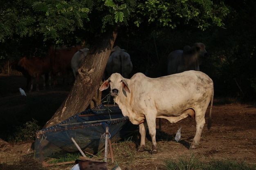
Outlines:
[[[79,69],[78,76],[70,90],[68,97],[58,108],[52,118],[47,121],[45,128],[56,125],[65,119],[84,111],[94,94],[99,89],[108,58],[113,48],[117,33],[106,33],[95,38],[90,47],[85,62]],[[93,52],[93,54],[91,53]]]

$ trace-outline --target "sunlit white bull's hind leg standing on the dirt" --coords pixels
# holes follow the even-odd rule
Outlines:
[[[200,137],[205,124],[205,118],[204,118],[205,112],[206,110],[202,110],[202,111],[198,111],[195,114],[196,132],[195,132],[195,137],[193,139],[193,142],[190,146],[190,149],[195,149],[199,145]]]

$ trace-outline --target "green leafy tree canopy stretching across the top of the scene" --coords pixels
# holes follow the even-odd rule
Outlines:
[[[136,31],[141,25],[173,29],[181,24],[204,30],[224,26],[229,13],[222,1],[211,0],[2,0],[0,11],[2,58],[78,44],[127,26]]]

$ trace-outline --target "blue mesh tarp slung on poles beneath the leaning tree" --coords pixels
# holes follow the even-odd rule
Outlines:
[[[52,155],[61,148],[68,152],[78,151],[72,137],[79,147],[92,154],[105,146],[104,133],[109,127],[110,139],[120,140],[138,128],[124,117],[117,106],[99,105],[85,110],[61,123],[36,132],[36,156]]]

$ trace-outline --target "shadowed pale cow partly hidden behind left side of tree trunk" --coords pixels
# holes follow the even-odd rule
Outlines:
[[[75,78],[78,73],[78,69],[82,66],[83,62],[85,61],[85,57],[87,56],[88,51],[88,48],[78,49],[78,51],[74,54],[74,56],[71,59],[71,68],[73,70]]]

